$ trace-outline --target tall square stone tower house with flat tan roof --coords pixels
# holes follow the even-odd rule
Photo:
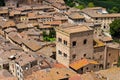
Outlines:
[[[93,30],[87,26],[65,24],[56,28],[56,58],[69,66],[72,62],[93,56]]]

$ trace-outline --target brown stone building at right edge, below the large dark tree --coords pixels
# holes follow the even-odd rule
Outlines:
[[[106,45],[106,57],[104,60],[105,68],[110,68],[117,65],[118,58],[120,56],[119,53],[119,44],[109,43]]]

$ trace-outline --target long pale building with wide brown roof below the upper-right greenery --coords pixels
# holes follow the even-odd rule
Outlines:
[[[103,30],[109,30],[109,24],[115,19],[120,18],[119,13],[109,14],[107,10],[102,7],[85,8],[82,10],[82,13],[86,19],[90,19],[94,23],[101,23]]]

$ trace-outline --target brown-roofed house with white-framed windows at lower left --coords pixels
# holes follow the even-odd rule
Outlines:
[[[37,60],[30,54],[21,54],[18,57],[11,56],[11,59],[15,58],[15,60],[9,63],[10,72],[16,76],[19,80],[23,80],[23,71],[29,70],[33,66],[37,65]]]

